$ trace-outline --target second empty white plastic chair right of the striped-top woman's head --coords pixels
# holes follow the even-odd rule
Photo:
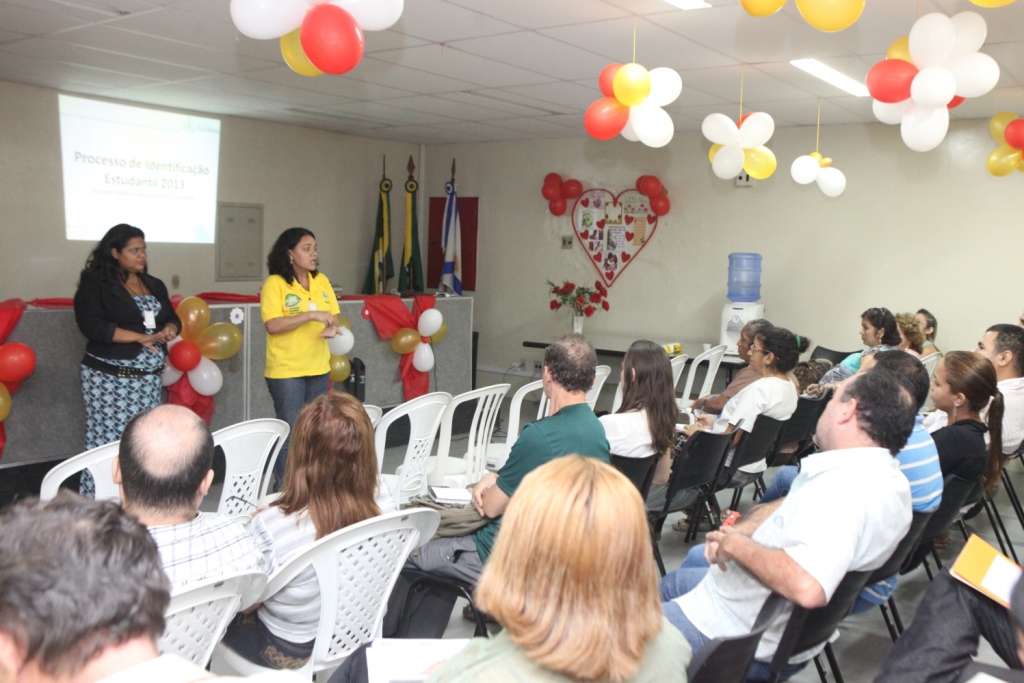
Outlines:
[[[441,431],[437,441],[437,457],[427,461],[427,482],[432,486],[454,486],[463,488],[476,483],[487,471],[487,449],[490,435],[495,431],[502,400],[511,384],[495,384],[467,391],[455,396],[444,409]],[[459,405],[476,401],[476,411],[469,426],[469,443],[462,458],[450,458],[452,450],[452,421]]]

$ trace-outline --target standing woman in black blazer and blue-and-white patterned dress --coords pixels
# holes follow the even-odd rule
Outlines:
[[[164,283],[145,265],[145,234],[121,223],[106,231],[82,270],[75,321],[89,340],[81,369],[86,451],[119,440],[132,418],[161,402],[166,344],[181,321]],[[88,470],[81,492],[95,493]]]

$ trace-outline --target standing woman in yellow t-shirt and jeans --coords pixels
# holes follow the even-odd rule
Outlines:
[[[328,391],[331,351],[340,312],[331,282],[316,269],[316,237],[304,227],[281,233],[266,257],[270,276],[260,292],[266,327],[266,386],[279,420],[289,427],[302,408]],[[291,436],[273,466],[280,483]]]

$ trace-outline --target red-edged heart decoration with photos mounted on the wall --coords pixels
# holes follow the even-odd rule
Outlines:
[[[572,207],[572,231],[608,287],[614,284],[657,229],[651,199],[639,190],[612,195],[588,189]]]

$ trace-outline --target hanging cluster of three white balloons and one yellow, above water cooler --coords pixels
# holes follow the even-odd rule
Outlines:
[[[757,180],[771,177],[778,162],[765,146],[775,133],[775,121],[764,112],[749,112],[736,125],[724,114],[711,114],[700,125],[705,137],[712,141],[711,168],[726,180],[740,171]]]

